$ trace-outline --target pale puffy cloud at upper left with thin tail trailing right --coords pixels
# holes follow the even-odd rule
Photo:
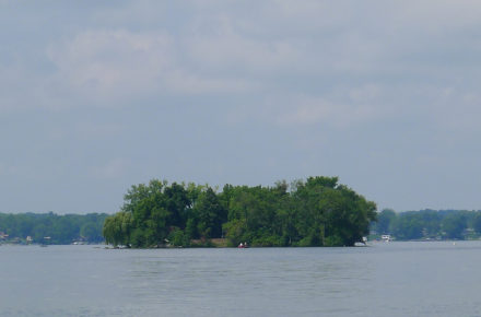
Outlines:
[[[209,77],[185,67],[166,32],[89,31],[52,46],[52,85],[91,99],[113,103],[160,94],[232,93],[256,89],[253,80]]]

